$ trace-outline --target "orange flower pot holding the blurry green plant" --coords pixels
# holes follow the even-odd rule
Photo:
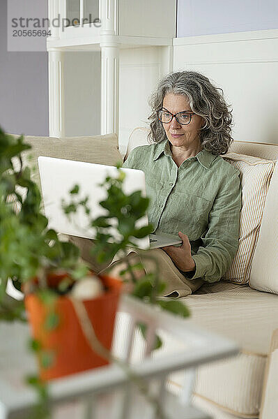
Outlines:
[[[107,291],[83,303],[95,335],[105,348],[110,349],[121,281],[105,275],[101,279]],[[88,344],[68,297],[59,296],[56,300],[55,312],[59,316],[59,324],[54,330],[45,330],[44,324],[49,308],[37,295],[27,295],[25,307],[29,314],[33,338],[40,341],[43,350],[54,353],[54,362],[50,367],[43,368],[40,364],[40,378],[43,381],[61,378],[109,363],[97,355]]]

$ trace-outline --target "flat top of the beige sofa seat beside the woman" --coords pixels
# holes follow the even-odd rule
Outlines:
[[[220,281],[203,284],[180,301],[190,309],[192,323],[235,341],[243,351],[268,354],[278,328],[277,295]]]

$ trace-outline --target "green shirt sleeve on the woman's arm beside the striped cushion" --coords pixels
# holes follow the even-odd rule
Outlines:
[[[196,265],[194,275],[207,282],[219,281],[230,267],[238,250],[241,209],[241,186],[238,172],[224,182],[218,191],[208,216],[208,228],[201,236],[203,245],[192,258]]]

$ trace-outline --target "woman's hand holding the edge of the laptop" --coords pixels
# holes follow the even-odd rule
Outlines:
[[[183,244],[179,247],[176,246],[165,246],[162,247],[167,255],[170,256],[173,263],[183,272],[190,272],[195,269],[195,262],[191,256],[191,246],[190,241],[186,234],[178,232],[178,235],[181,240],[183,240]]]

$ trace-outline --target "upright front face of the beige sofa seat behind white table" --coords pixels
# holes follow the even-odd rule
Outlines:
[[[266,357],[247,353],[203,365],[196,371],[193,393],[231,415],[258,418],[265,365]],[[172,374],[169,390],[179,395],[182,385],[183,373]]]

